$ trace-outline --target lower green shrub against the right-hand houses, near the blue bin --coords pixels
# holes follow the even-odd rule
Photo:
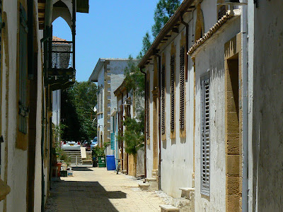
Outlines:
[[[136,155],[144,147],[144,111],[139,113],[138,119],[127,117],[123,123],[124,136],[118,136],[118,141],[125,141],[126,153]]]

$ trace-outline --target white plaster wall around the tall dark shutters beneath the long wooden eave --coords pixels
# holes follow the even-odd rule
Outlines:
[[[186,20],[188,22],[188,20]],[[175,131],[176,138],[171,139],[171,99],[170,99],[170,61],[171,61],[171,45],[163,49],[161,55],[166,57],[166,140],[161,142],[161,189],[166,194],[173,197],[180,197],[182,187],[192,187],[193,172],[193,105],[188,102],[193,96],[190,90],[193,90],[194,78],[188,78],[185,83],[186,95],[186,137],[180,138],[180,40],[181,33],[185,33],[183,25],[180,25],[180,34],[174,37],[176,47],[175,57]],[[191,65],[191,63],[190,63]]]

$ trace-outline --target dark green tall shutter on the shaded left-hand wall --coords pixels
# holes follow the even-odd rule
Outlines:
[[[27,134],[28,128],[28,25],[27,14],[20,4],[19,30],[19,131]]]

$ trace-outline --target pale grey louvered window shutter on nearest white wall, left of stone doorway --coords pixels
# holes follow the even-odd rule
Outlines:
[[[202,78],[201,90],[201,194],[209,196],[209,76]]]

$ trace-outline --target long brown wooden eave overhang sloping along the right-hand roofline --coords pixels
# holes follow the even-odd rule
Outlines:
[[[186,13],[187,11],[192,11],[195,9],[195,6],[192,5],[195,3],[195,1],[196,0],[184,0],[183,1],[183,3],[179,6],[177,11],[175,11],[174,15],[168,20],[166,25],[164,25],[164,27],[162,28],[160,33],[157,35],[156,39],[152,43],[149,50],[146,52],[144,57],[139,62],[139,65],[138,65],[139,68],[141,69],[144,68],[144,66],[148,63],[148,60],[150,59],[150,57],[156,54],[156,49],[158,49],[158,45],[160,45],[164,37],[166,37],[166,35],[170,33],[171,30],[174,31],[174,29],[176,29],[175,25],[180,21],[180,16],[183,16],[183,14]]]

